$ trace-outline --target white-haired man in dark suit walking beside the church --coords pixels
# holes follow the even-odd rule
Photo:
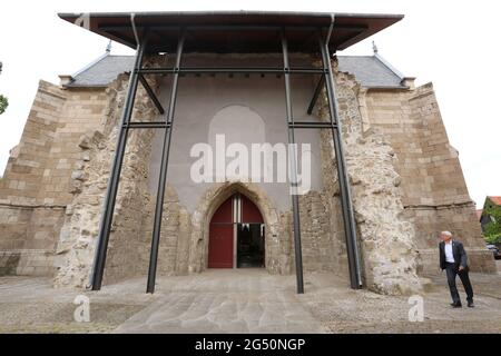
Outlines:
[[[440,268],[445,269],[448,274],[449,289],[451,290],[452,307],[461,308],[461,298],[455,286],[455,276],[459,275],[461,283],[466,291],[468,306],[470,308],[473,305],[473,288],[471,287],[470,277],[468,276],[468,256],[464,250],[463,244],[452,239],[450,231],[442,231],[440,234],[442,243],[439,245],[440,249]]]

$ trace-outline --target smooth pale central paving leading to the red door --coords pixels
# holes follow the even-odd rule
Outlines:
[[[202,277],[202,278],[200,278]],[[324,333],[295,294],[291,276],[208,270],[160,280],[163,295],[115,333]],[[170,290],[170,291],[167,291]]]

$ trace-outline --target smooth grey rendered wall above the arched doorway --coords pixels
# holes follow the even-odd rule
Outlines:
[[[281,66],[279,57],[264,58],[262,56],[188,56],[184,58],[183,66],[208,67],[219,66]],[[305,57],[292,56],[293,66],[311,66]],[[293,112],[296,120],[317,120],[306,113],[306,108],[313,95],[316,78],[312,76],[292,76]],[[170,76],[166,76],[161,86],[161,101],[168,106],[170,91]],[[232,115],[235,115],[234,125]],[[213,118],[218,122],[210,127]],[[259,117],[262,120],[259,120]],[[228,125],[220,125],[222,122]],[[264,126],[264,135],[262,128]],[[209,137],[209,132],[212,137]],[[198,142],[212,144],[215,134],[224,134],[230,141],[249,144],[287,142],[287,128],[285,119],[285,88],[284,78],[266,75],[209,75],[186,76],[179,79],[178,98],[175,112],[175,125],[170,146],[169,167],[167,180],[178,194],[179,200],[188,211],[193,211],[197,201],[212,184],[195,184],[190,180],[191,164],[197,159],[189,157],[193,145]],[[158,172],[161,156],[161,140],[164,132],[156,132],[149,174],[149,188],[156,194]],[[264,136],[264,137],[263,137]],[[228,139],[229,138],[229,139]],[[320,162],[320,132],[316,130],[296,130],[298,144],[311,144],[312,147],[312,190],[322,189]],[[215,149],[215,147],[213,147]],[[301,167],[301,166],[299,166]],[[288,184],[259,184],[276,205],[276,208],[286,211],[291,208]]]

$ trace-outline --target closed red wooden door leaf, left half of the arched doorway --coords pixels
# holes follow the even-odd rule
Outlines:
[[[233,268],[233,198],[223,202],[210,220],[208,268]]]

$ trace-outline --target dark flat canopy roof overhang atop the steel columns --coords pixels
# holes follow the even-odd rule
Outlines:
[[[96,12],[59,13],[68,22],[136,48],[148,29],[148,51],[173,52],[180,29],[186,30],[185,52],[282,52],[279,31],[292,52],[317,52],[318,31],[333,24],[328,48],[343,50],[400,21],[403,14],[326,12]],[[334,22],[333,22],[334,19]]]

